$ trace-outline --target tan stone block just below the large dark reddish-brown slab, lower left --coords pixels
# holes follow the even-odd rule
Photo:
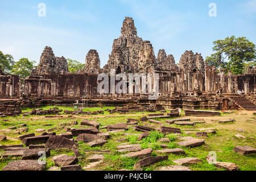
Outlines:
[[[61,154],[53,156],[53,162],[55,166],[70,166],[76,164],[79,160],[75,156],[68,156],[66,154]]]

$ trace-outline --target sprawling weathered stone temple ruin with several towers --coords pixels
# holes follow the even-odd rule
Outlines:
[[[100,94],[97,92],[99,73],[158,73],[159,97],[148,100],[146,94]],[[256,72],[248,68],[243,75],[224,75],[204,62],[200,53],[185,51],[179,65],[174,56],[160,49],[155,56],[150,41],[137,35],[132,18],[126,17],[121,36],[114,39],[108,63],[100,68],[100,57],[91,49],[85,67],[77,73],[68,71],[65,57],[55,57],[45,47],[39,66],[23,82],[18,76],[0,73],[0,113],[19,113],[20,106],[154,106],[165,109],[241,109],[256,110]],[[128,83],[127,83],[128,84]],[[140,88],[141,89],[141,88]],[[244,90],[240,96],[238,90]],[[218,92],[218,94],[216,93]]]

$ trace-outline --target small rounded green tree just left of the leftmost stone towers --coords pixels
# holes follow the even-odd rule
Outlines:
[[[14,75],[18,75],[20,78],[26,78],[34,68],[34,63],[35,61],[29,61],[27,58],[23,57],[14,64],[11,72]]]

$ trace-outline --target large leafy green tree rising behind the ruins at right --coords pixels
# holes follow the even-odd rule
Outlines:
[[[222,68],[225,72],[232,71],[236,75],[242,74],[245,69],[244,63],[255,62],[255,44],[245,37],[230,36],[224,40],[214,41],[213,45],[213,51],[216,53],[206,57],[205,62],[218,69]]]

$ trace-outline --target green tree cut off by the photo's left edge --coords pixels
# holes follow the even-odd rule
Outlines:
[[[0,51],[0,69],[3,73],[11,73],[11,69],[13,69],[14,59],[11,55],[4,55],[2,51]]]

